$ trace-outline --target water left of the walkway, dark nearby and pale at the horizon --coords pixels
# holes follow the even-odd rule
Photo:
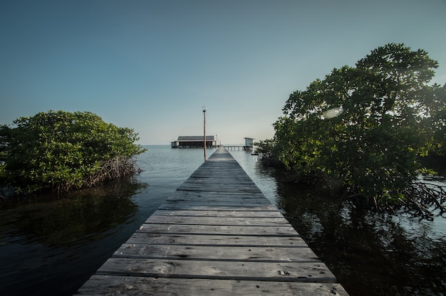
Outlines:
[[[0,203],[0,295],[72,295],[204,160],[146,148],[133,180]]]

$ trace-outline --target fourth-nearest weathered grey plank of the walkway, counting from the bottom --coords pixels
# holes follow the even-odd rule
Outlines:
[[[289,247],[306,246],[299,236],[229,236],[229,235],[201,235],[196,233],[168,234],[168,233],[142,233],[135,232],[126,243],[158,243],[172,245],[244,245]]]

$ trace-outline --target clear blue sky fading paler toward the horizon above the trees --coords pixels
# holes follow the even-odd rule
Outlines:
[[[445,0],[1,0],[0,124],[90,111],[169,144],[271,138],[286,99],[386,43],[446,83]]]

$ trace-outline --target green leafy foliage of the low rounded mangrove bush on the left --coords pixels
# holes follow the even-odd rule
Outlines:
[[[116,127],[91,112],[41,112],[0,127],[0,177],[18,191],[93,186],[105,164],[133,165],[145,150],[133,129]],[[118,169],[119,170],[119,169]]]

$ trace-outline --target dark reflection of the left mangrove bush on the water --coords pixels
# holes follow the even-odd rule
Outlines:
[[[115,228],[138,210],[130,196],[142,184],[121,180],[101,189],[79,191],[63,196],[48,195],[33,201],[19,201],[19,207],[2,206],[1,233],[14,232],[47,247],[69,247],[79,240],[98,240],[95,233]],[[38,199],[36,201],[36,199]],[[9,209],[8,209],[9,207]],[[3,241],[6,244],[8,241]]]

